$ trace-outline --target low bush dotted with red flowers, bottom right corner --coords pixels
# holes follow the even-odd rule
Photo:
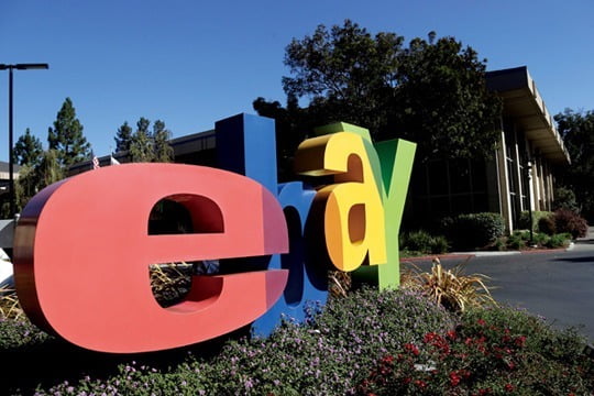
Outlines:
[[[510,308],[471,310],[376,362],[360,395],[590,395],[594,366],[570,329]]]

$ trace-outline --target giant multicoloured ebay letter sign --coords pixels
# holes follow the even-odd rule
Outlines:
[[[24,208],[14,233],[19,299],[42,329],[81,348],[116,353],[173,349],[246,324],[267,334],[283,315],[302,319],[324,302],[327,271],[399,285],[398,230],[415,144],[374,144],[346,123],[299,145],[298,174],[316,188],[277,183],[274,121],[240,114],[216,123],[218,168],[124,164],[48,186]],[[193,231],[148,233],[168,199]],[[185,300],[155,300],[148,266],[220,260],[194,276]]]

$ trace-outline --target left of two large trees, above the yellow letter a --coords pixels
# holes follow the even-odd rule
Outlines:
[[[289,98],[310,98],[319,122],[346,121],[377,133],[386,128],[403,42],[395,33],[372,37],[350,20],[330,31],[320,24],[287,46],[285,65],[295,76],[283,77],[283,88]]]

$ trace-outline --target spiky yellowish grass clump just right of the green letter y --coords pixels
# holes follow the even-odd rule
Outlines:
[[[483,274],[464,275],[464,266],[469,260],[451,270],[444,270],[439,258],[433,258],[431,272],[422,272],[418,266],[407,263],[403,272],[402,287],[420,292],[442,305],[448,310],[460,312],[470,307],[497,306],[486,282],[490,277]]]

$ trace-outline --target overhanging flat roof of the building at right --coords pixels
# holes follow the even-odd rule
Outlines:
[[[570,164],[570,156],[552,116],[526,66],[486,74],[487,87],[504,100],[504,117],[512,118],[542,156]]]

